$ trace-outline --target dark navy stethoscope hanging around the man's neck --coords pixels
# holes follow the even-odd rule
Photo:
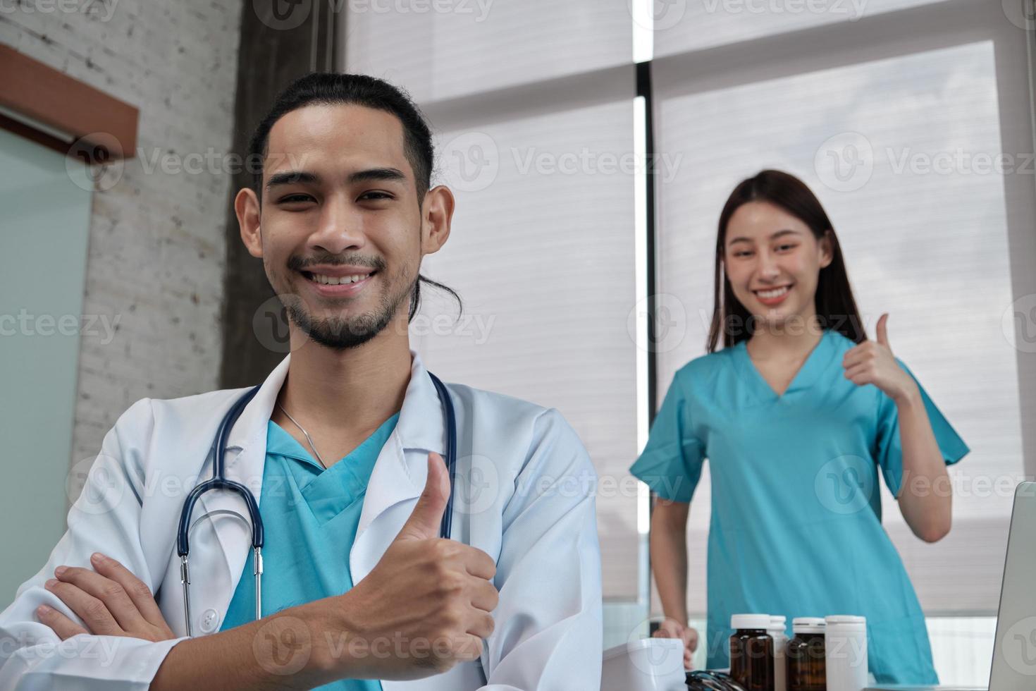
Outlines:
[[[435,391],[438,393],[439,402],[442,404],[442,412],[447,419],[447,470],[450,473],[450,497],[447,499],[447,508],[442,513],[442,523],[439,526],[439,537],[449,539],[450,528],[453,524],[453,496],[454,496],[454,477],[457,469],[457,419],[454,415],[453,401],[450,399],[450,392],[447,391],[445,385],[439,381],[431,372],[428,376],[432,378],[432,383],[435,384]],[[183,509],[180,513],[180,523],[176,532],[176,553],[180,555],[180,584],[183,586],[183,616],[184,623],[186,624],[188,636],[193,635],[191,633],[191,569],[188,566],[188,553],[191,548],[188,544],[188,538],[191,531],[194,530],[198,523],[211,515],[225,514],[236,516],[242,521],[246,520],[243,516],[235,511],[229,510],[217,510],[210,511],[202,516],[199,516],[194,523],[191,521],[191,512],[194,511],[194,505],[198,500],[198,497],[211,489],[227,489],[231,492],[235,492],[244,500],[244,506],[249,512],[249,524],[252,528],[252,553],[253,553],[253,575],[256,580],[256,618],[262,618],[262,542],[263,542],[263,529],[262,529],[262,517],[259,515],[259,503],[256,501],[255,495],[249,490],[248,487],[240,483],[236,483],[233,480],[227,480],[224,472],[224,455],[227,449],[227,439],[230,437],[230,430],[237,422],[241,412],[244,410],[244,406],[249,404],[249,401],[256,395],[259,391],[259,386],[255,386],[239,398],[230,410],[224,415],[223,421],[220,423],[220,427],[215,433],[215,457],[212,462],[212,479],[203,482],[202,484],[191,490],[191,494],[188,495],[186,500],[183,502]],[[189,525],[190,523],[190,525]]]

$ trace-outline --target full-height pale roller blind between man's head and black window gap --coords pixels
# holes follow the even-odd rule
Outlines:
[[[464,312],[453,321],[456,304],[424,291],[412,346],[449,381],[565,415],[602,481],[604,595],[636,599],[629,8],[496,0],[480,21],[350,11],[346,25],[343,67],[411,93],[436,135],[434,182],[457,199],[450,240],[422,271],[457,290]]]

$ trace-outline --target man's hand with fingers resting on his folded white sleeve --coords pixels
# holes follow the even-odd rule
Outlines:
[[[127,636],[159,641],[176,638],[150,588],[128,569],[99,552],[90,557],[96,572],[79,567],[58,567],[45,587],[79,614],[89,629],[60,611],[41,605],[36,616],[54,629],[61,640],[87,633]],[[60,573],[59,573],[60,572]]]

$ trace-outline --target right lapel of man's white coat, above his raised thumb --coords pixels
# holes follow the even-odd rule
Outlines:
[[[428,478],[428,453],[444,454],[445,420],[438,393],[421,356],[414,350],[410,356],[410,381],[399,421],[374,464],[349,553],[353,583],[367,577],[409,517]],[[409,506],[390,511],[404,503]]]

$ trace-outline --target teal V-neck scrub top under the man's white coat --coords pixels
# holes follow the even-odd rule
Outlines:
[[[399,413],[348,456],[324,468],[272,420],[266,427],[266,461],[259,500],[265,530],[262,614],[341,595],[352,587],[349,550],[374,462]],[[221,631],[255,621],[253,556],[249,557]],[[381,691],[377,680],[340,680],[317,687]]]

